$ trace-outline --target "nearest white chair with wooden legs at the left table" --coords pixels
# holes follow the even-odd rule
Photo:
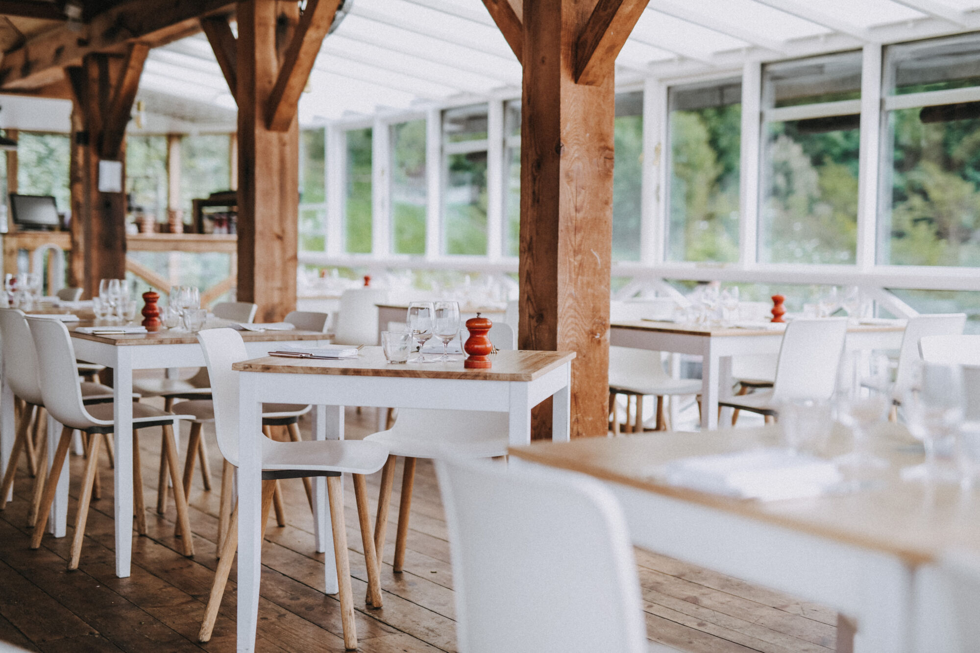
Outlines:
[[[33,537],[30,540],[30,548],[36,549],[41,545],[44,536],[44,528],[51,511],[51,504],[54,501],[55,492],[58,486],[58,478],[61,476],[65,457],[68,454],[69,444],[72,441],[74,429],[81,430],[89,435],[88,437],[88,460],[85,463],[84,477],[81,481],[81,493],[78,497],[78,512],[75,518],[74,536],[72,541],[71,559],[68,568],[70,570],[78,568],[78,558],[81,554],[81,544],[85,534],[85,521],[88,517],[88,504],[92,496],[92,486],[95,480],[96,465],[99,457],[100,437],[97,434],[112,433],[115,429],[113,424],[114,404],[101,403],[92,404],[86,407],[82,401],[81,387],[78,384],[78,377],[74,370],[74,347],[68,328],[58,320],[44,318],[27,318],[30,326],[30,335],[34,341],[34,349],[37,354],[39,364],[39,379],[41,395],[44,398],[44,407],[55,420],[61,423],[61,439],[58,442],[58,449],[55,452],[54,461],[51,465],[51,473],[44,486],[44,495],[41,498],[40,509],[37,515],[37,522],[34,525]],[[174,415],[167,411],[161,411],[145,404],[133,403],[132,406],[132,427],[133,427],[133,484],[142,485],[142,475],[139,464],[139,441],[136,430],[148,427],[163,427],[164,447],[170,454],[171,479],[173,482],[173,494],[177,507],[177,521],[180,524],[180,534],[182,537],[183,553],[186,556],[194,555],[194,543],[190,530],[190,519],[187,511],[187,502],[184,498],[183,488],[177,476],[176,445],[173,439],[173,425],[178,420],[189,419],[190,416]],[[140,494],[135,493],[136,497]],[[135,509],[142,510],[142,505],[137,500]]]

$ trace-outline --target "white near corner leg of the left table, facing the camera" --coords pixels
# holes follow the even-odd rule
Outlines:
[[[116,576],[129,577],[132,558],[132,355],[116,347],[113,367],[116,428]]]

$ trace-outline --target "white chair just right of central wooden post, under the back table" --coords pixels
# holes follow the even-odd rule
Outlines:
[[[657,397],[657,429],[664,430],[663,398],[672,395],[700,394],[700,378],[673,378],[663,370],[661,352],[632,347],[610,347],[610,410],[613,431],[618,432],[616,395],[626,395],[626,420],[629,424],[629,398],[636,398],[634,431],[643,430],[643,397]]]

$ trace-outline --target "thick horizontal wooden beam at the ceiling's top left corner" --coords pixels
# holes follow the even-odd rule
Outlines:
[[[92,18],[81,31],[67,26],[28,39],[0,60],[0,88],[34,88],[57,80],[62,68],[80,66],[93,52],[125,53],[139,40],[166,45],[201,30],[200,18],[229,14],[228,0],[128,0]]]

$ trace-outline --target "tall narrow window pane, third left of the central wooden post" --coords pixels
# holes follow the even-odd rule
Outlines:
[[[391,222],[396,254],[425,253],[425,121],[391,126]]]

